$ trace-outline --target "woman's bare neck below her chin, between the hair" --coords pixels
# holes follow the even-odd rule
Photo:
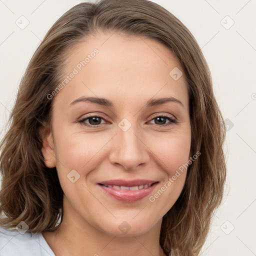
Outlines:
[[[159,244],[161,219],[141,235],[109,234],[86,222],[63,197],[63,218],[53,232],[42,232],[56,256],[164,256]]]

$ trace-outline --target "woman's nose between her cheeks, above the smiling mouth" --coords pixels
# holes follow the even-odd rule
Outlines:
[[[144,136],[135,128],[135,125],[131,125],[126,131],[117,127],[109,154],[110,162],[121,165],[125,170],[134,170],[138,165],[145,165],[150,159],[150,149],[143,138]]]

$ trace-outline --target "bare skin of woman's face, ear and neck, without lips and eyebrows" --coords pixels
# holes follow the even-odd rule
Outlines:
[[[148,198],[166,187],[191,156],[185,77],[174,80],[169,75],[174,67],[182,68],[175,55],[153,39],[98,32],[70,50],[64,74],[94,48],[98,54],[52,99],[52,126],[42,130],[45,165],[56,166],[64,192],[62,223],[42,234],[56,256],[165,255],[159,245],[162,217],[177,200],[186,169],[154,202]],[[70,105],[81,96],[106,98],[113,106],[88,101]],[[166,96],[182,105],[145,105]],[[177,122],[157,122],[157,116],[166,114]],[[102,116],[98,127],[91,119],[78,122],[88,115]],[[126,131],[118,126],[123,118],[131,124]],[[72,169],[80,175],[74,183],[67,178]],[[117,178],[159,182],[149,196],[121,202],[96,185]],[[126,233],[118,228],[123,221],[130,226]]]

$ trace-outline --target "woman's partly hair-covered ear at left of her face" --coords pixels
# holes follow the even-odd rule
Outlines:
[[[39,134],[42,140],[41,151],[44,157],[44,164],[48,168],[53,168],[56,166],[56,157],[52,132],[48,126],[43,126],[40,128]]]

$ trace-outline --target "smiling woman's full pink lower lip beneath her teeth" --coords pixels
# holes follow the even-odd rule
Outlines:
[[[106,192],[106,194],[111,196],[112,198],[115,198],[123,202],[135,202],[150,194],[154,187],[157,185],[157,183],[154,183],[147,188],[141,188],[137,190],[120,190],[114,189],[112,187],[107,187],[104,185],[97,185],[99,185],[101,189],[103,189]]]

